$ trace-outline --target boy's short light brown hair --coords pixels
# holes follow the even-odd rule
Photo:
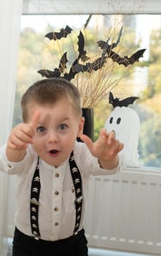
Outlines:
[[[21,99],[23,121],[27,121],[30,105],[54,105],[61,99],[71,104],[77,116],[82,115],[80,94],[73,83],[63,78],[37,81],[25,91]]]

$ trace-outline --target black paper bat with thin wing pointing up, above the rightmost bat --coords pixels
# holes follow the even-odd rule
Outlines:
[[[111,49],[115,48],[115,47],[118,45],[121,36],[122,36],[122,27],[121,27],[121,29],[120,29],[120,31],[119,31],[119,36],[118,36],[116,42],[112,42],[112,44],[109,45],[109,39],[110,39],[110,37],[109,37],[109,38],[106,40],[106,42],[100,40],[100,41],[97,42],[97,44],[98,44],[98,46],[103,50],[103,53],[104,53],[104,54],[106,54],[106,53],[109,54],[109,53],[111,52]]]

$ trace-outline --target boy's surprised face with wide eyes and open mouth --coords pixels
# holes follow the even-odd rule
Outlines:
[[[58,167],[70,156],[76,137],[82,134],[84,118],[76,116],[65,99],[55,105],[32,106],[28,111],[28,122],[36,110],[41,115],[32,144],[44,162]]]

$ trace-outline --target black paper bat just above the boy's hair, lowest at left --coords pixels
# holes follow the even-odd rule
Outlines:
[[[46,78],[59,78],[60,75],[64,72],[64,69],[66,69],[66,62],[68,62],[68,59],[66,58],[66,53],[63,53],[63,56],[60,59],[59,67],[55,68],[53,71],[48,69],[40,69],[38,71],[39,74],[42,75],[42,77]]]

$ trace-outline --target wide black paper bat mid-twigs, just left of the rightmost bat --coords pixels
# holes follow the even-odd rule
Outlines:
[[[87,62],[87,64],[82,65],[82,64],[76,64],[74,65],[74,70],[76,72],[92,72],[93,70],[98,70],[101,69],[101,67],[103,67],[103,65],[106,62],[106,57],[102,56],[98,59],[96,59],[95,61],[93,61],[92,63]]]

